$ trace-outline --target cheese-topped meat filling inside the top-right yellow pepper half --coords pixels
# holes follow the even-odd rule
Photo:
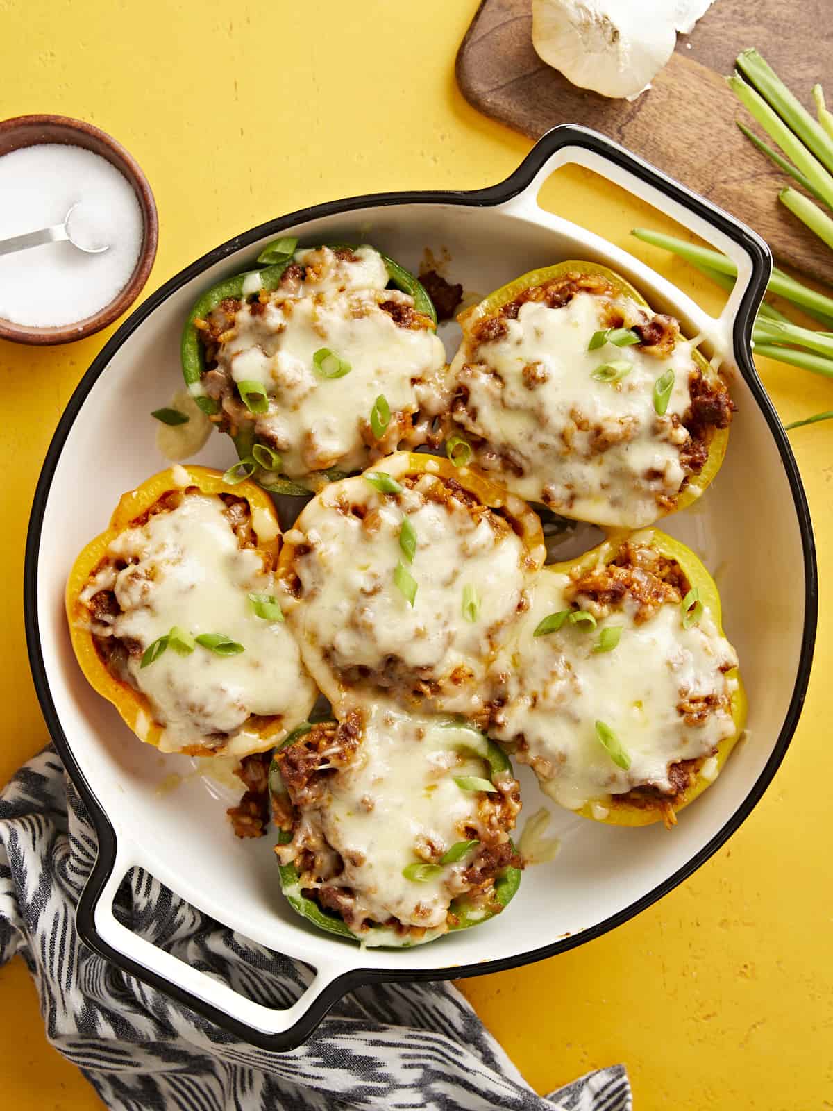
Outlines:
[[[732,418],[693,351],[672,317],[568,273],[464,324],[451,419],[478,466],[521,497],[640,528],[675,508]]]

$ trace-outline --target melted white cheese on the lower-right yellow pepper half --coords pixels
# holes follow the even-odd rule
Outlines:
[[[491,733],[504,741],[523,738],[528,751],[519,751],[519,760],[531,763],[543,790],[571,810],[638,785],[670,790],[670,764],[707,757],[734,733],[723,707],[699,725],[686,724],[678,711],[684,698],[731,694],[732,680],[720,669],[736,665],[734,650],[707,611],[686,630],[680,605],[665,603],[636,624],[630,595],[589,632],[566,622],[533,637],[543,618],[570,609],[569,583],[566,574],[542,572],[516,638],[495,664],[506,704]],[[594,652],[609,625],[622,629],[618,647]],[[631,759],[628,771],[598,740],[596,721],[615,733]]]

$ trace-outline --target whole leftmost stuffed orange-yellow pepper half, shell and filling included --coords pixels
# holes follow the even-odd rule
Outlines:
[[[175,466],[126,493],[72,567],[78,662],[142,741],[244,757],[309,714],[315,687],[283,622],[270,497]]]

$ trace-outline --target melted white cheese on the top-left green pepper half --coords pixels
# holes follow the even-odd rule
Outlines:
[[[299,251],[295,258],[309,276],[300,290],[270,294],[257,316],[243,304],[218,356],[218,368],[235,382],[265,388],[269,412],[257,419],[255,431],[281,453],[290,477],[365,467],[362,432],[369,431],[380,393],[392,413],[434,416],[444,408],[442,341],[432,328],[394,323],[380,306],[412,307],[413,299],[385,289],[388,271],[378,251],[360,247],[355,253],[358,261],[351,262],[328,248]],[[350,372],[342,378],[318,373],[313,356],[322,348],[350,363]]]

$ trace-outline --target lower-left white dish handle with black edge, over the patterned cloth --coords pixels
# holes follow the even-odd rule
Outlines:
[[[122,972],[159,988],[251,1044],[278,1051],[300,1045],[321,1021],[331,1003],[342,994],[341,989],[330,992],[327,989],[343,974],[343,965],[317,958],[312,982],[289,1008],[271,1008],[247,999],[228,983],[223,983],[218,975],[187,964],[133,933],[116,918],[116,893],[129,869],[134,865],[143,867],[120,845],[112,869],[101,883],[96,882],[99,871],[97,862],[78,905],[78,932],[84,943]]]

